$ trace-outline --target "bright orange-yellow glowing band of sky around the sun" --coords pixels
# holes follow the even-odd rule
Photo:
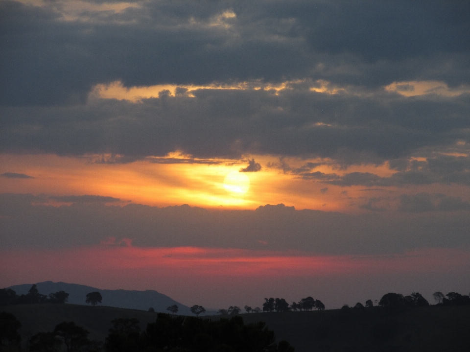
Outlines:
[[[364,190],[363,186],[339,187],[303,180],[269,167],[279,164],[279,160],[266,156],[254,156],[262,165],[260,171],[243,173],[238,171],[247,161],[193,160],[178,153],[128,164],[97,163],[100,158],[103,157],[0,154],[0,174],[13,171],[34,177],[2,178],[0,192],[102,195],[121,199],[121,205],[132,201],[159,207],[189,204],[212,209],[256,209],[260,205],[283,203],[296,209],[357,212],[357,207],[351,207],[352,204],[357,205],[364,197],[374,194],[390,197],[394,190],[393,187]],[[306,161],[290,160],[289,163],[300,167]],[[327,164],[314,171],[372,172],[382,177],[394,172],[387,164],[352,165],[347,170]],[[228,175],[236,178],[227,181]],[[426,187],[429,186],[424,185],[421,189],[426,190]],[[462,195],[459,186],[432,185],[433,191],[439,188]]]

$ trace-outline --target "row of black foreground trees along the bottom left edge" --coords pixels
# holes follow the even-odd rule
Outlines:
[[[62,322],[53,331],[38,332],[27,341],[31,352],[294,352],[287,341],[275,342],[274,331],[265,323],[244,324],[239,316],[232,319],[200,319],[158,313],[155,323],[141,331],[139,320],[120,318],[104,344],[88,338],[89,331],[73,322]],[[18,347],[21,323],[10,313],[0,313],[2,346]],[[11,350],[11,348],[10,348]]]

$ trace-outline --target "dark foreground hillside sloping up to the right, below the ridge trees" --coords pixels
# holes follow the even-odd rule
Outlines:
[[[296,352],[469,352],[470,306],[382,307],[243,314],[287,340]]]

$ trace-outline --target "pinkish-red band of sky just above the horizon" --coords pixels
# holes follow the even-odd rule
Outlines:
[[[416,277],[411,280],[415,286],[409,289],[419,291],[427,289],[426,284],[432,289],[433,280],[429,278],[436,278],[437,282],[457,277],[462,281],[461,278],[470,274],[470,250],[444,248],[394,255],[328,256],[288,251],[102,245],[60,250],[3,250],[0,262],[2,287],[51,280],[103,289],[156,289],[180,300],[199,297],[212,306],[223,304],[227,296],[224,289],[238,300],[248,299],[255,292],[267,295],[276,290],[271,295],[298,295],[302,292],[299,285],[313,287],[305,286],[305,294],[308,290],[326,292],[328,287],[331,290],[332,282],[339,287],[362,282],[374,287],[369,291],[381,292],[381,287],[387,289],[385,278],[395,278],[395,290],[400,290],[400,278],[410,281]],[[440,287],[434,290],[438,289],[445,290]],[[452,289],[452,284],[447,289]],[[423,294],[429,296],[432,292]]]

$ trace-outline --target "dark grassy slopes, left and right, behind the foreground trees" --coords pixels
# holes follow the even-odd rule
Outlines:
[[[106,306],[70,304],[10,305],[1,307],[22,323],[21,334],[52,331],[63,321],[88,329],[90,338],[104,341],[111,320],[137,318],[141,328],[154,322],[156,313]],[[245,324],[264,321],[287,340],[296,352],[469,352],[470,306],[430,306],[390,312],[374,307],[308,312],[242,314]],[[219,316],[208,317],[220,319]]]

